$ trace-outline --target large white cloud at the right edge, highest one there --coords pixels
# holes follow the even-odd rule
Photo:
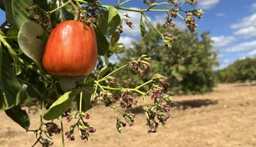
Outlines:
[[[251,38],[256,36],[256,13],[242,18],[236,24],[231,24],[230,28],[235,29],[234,34],[243,38]]]

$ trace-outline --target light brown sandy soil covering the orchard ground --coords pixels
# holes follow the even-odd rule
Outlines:
[[[90,110],[89,123],[97,129],[89,142],[66,140],[67,147],[78,146],[256,146],[256,84],[219,84],[215,92],[197,96],[176,96],[171,118],[156,134],[148,134],[145,115],[136,109],[133,126],[120,134],[112,109],[99,106]],[[30,114],[31,127],[39,126],[39,114]],[[36,138],[0,112],[0,146],[31,146]],[[64,126],[70,125],[65,122]],[[40,146],[40,145],[36,145]],[[61,146],[61,135],[54,137]]]

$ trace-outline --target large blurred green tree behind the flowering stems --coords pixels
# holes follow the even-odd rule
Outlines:
[[[161,24],[157,24],[156,28],[161,30]],[[169,33],[176,37],[172,49],[162,47],[162,37],[148,26],[146,36],[138,42],[134,41],[133,48],[126,50],[122,60],[126,62],[131,57],[148,54],[154,63],[151,67],[152,73],[158,72],[168,77],[172,93],[205,93],[213,90],[215,76],[212,68],[218,62],[217,53],[212,51],[209,32],[203,32],[201,38],[198,33],[191,34],[181,29],[169,30]],[[123,73],[123,77],[132,75],[132,70]],[[143,83],[149,77],[133,77],[130,84]]]

